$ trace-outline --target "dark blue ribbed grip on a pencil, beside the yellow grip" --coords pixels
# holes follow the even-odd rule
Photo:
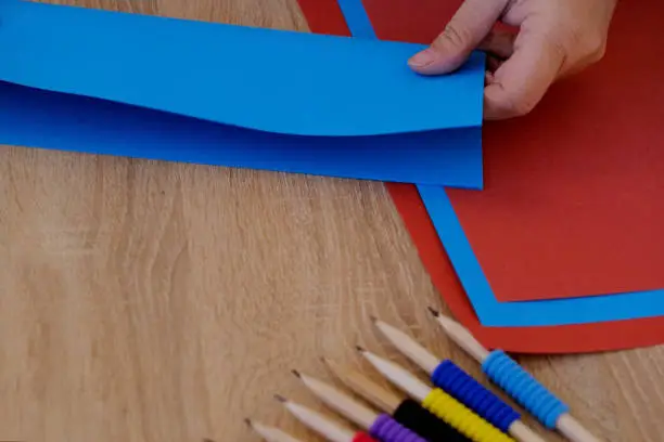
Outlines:
[[[514,408],[487,390],[450,360],[444,360],[431,375],[432,382],[502,432],[521,418]]]

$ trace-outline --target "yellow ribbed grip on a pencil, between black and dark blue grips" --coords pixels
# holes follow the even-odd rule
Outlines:
[[[431,390],[431,393],[422,401],[422,406],[474,442],[514,442],[514,439],[471,412],[439,388]]]

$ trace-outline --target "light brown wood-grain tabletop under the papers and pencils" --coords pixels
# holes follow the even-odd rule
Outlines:
[[[68,3],[306,30],[295,0]],[[290,374],[321,355],[379,379],[356,343],[412,367],[370,314],[478,375],[380,183],[0,146],[0,440],[319,441],[272,394],[325,410]],[[605,441],[663,440],[662,348],[521,361]]]

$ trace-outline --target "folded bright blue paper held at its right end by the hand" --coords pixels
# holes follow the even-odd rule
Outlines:
[[[484,58],[418,44],[0,2],[0,143],[482,187]]]

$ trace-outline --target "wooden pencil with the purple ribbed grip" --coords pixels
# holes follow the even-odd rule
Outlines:
[[[374,439],[381,442],[426,442],[390,415],[374,412],[329,384],[297,370],[293,370],[293,374],[325,405],[368,431]]]

